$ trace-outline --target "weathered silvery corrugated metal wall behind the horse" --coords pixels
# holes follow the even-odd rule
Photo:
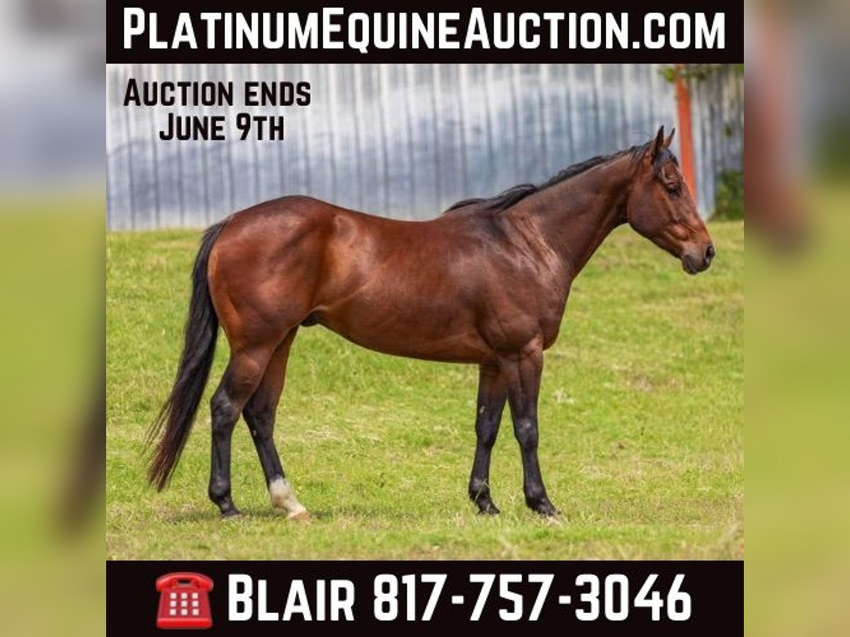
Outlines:
[[[164,142],[169,107],[124,107],[127,79],[310,82],[283,142]],[[310,194],[388,217],[433,217],[456,200],[538,182],[593,155],[641,144],[676,122],[673,87],[652,65],[111,65],[108,226],[197,228],[281,194]],[[217,107],[178,108],[184,115]],[[698,202],[743,158],[743,78],[694,83]],[[231,120],[233,117],[230,118]]]

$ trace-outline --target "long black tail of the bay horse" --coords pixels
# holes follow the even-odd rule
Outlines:
[[[148,470],[148,481],[156,485],[157,491],[167,487],[174,467],[177,466],[212,366],[215,341],[218,337],[218,316],[212,307],[207,285],[207,260],[212,245],[224,228],[224,223],[216,223],[207,228],[201,240],[201,249],[195,257],[195,267],[192,268],[192,298],[177,378],[174,380],[171,395],[162,405],[159,415],[148,431],[149,445],[159,436]]]

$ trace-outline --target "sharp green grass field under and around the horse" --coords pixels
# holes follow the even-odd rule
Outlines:
[[[107,558],[742,558],[744,226],[709,230],[718,256],[700,276],[620,228],[575,281],[541,388],[557,522],[524,505],[507,413],[490,475],[502,514],[468,502],[474,367],[383,356],[320,327],[295,341],[275,428],[311,521],[271,510],[242,424],[233,493],[245,515],[219,520],[208,399],[171,488],[148,488],[144,432],[183,345],[199,234],[108,234]],[[207,398],[227,354],[219,336]]]

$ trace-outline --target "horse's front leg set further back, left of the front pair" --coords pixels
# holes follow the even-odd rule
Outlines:
[[[490,499],[490,451],[496,443],[505,409],[505,381],[497,365],[482,364],[479,368],[479,396],[475,414],[475,459],[469,476],[469,499],[478,505],[479,513],[495,516],[499,513]]]

